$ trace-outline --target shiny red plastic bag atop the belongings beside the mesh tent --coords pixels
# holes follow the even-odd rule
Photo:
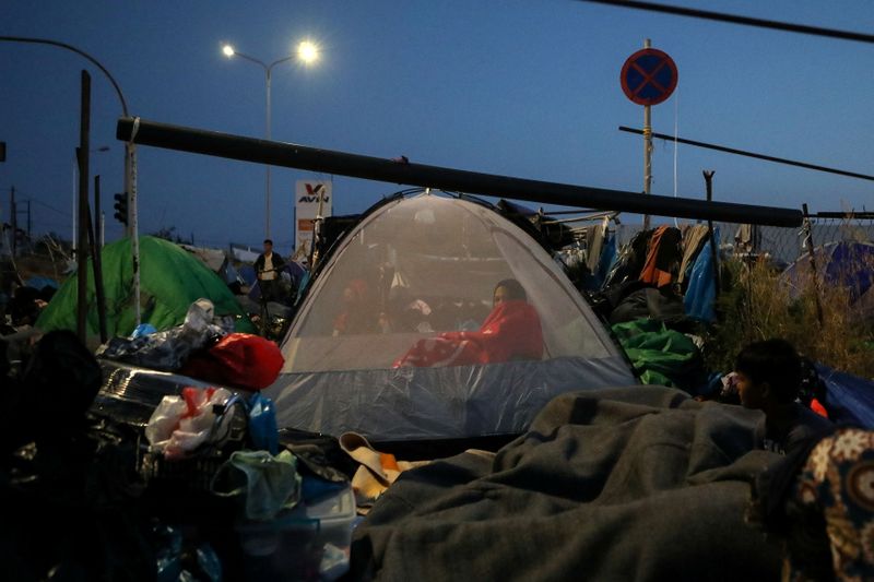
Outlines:
[[[192,355],[179,370],[186,376],[244,390],[272,384],[285,358],[270,340],[248,333],[225,335],[209,352]]]

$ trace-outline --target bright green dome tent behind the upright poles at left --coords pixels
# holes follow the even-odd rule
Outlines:
[[[107,333],[110,336],[128,336],[134,328],[130,239],[107,245],[103,248],[101,258]],[[99,331],[91,261],[87,273],[87,333],[95,336]],[[76,277],[71,276],[61,285],[40,313],[37,328],[44,332],[76,329]],[[255,331],[227,285],[200,260],[168,240],[140,237],[142,323],[151,323],[158,331],[181,325],[189,306],[201,297],[213,302],[216,317],[238,317],[237,331]]]

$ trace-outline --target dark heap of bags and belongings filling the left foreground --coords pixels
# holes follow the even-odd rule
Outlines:
[[[228,333],[212,309],[194,301],[184,324],[115,338],[99,360],[69,331],[35,344],[2,431],[0,546],[13,579],[334,580],[347,570],[353,471],[327,464],[318,443],[294,453],[280,441],[259,392],[282,366],[279,347]],[[122,423],[93,404],[109,357],[130,369],[200,367],[215,385],[192,378],[142,423]],[[56,543],[36,551],[48,531]]]

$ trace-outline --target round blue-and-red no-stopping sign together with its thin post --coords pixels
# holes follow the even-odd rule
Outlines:
[[[643,193],[652,186],[652,117],[650,107],[674,92],[678,80],[676,64],[665,52],[651,48],[650,39],[643,49],[625,61],[619,74],[622,91],[631,102],[643,106]],[[649,214],[643,216],[643,229],[649,228]]]

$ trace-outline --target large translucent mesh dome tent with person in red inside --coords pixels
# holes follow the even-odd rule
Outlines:
[[[486,340],[500,348],[520,337],[530,344],[538,333],[532,324],[500,337],[512,325],[496,322],[493,292],[508,278],[536,312],[541,357],[480,349]],[[484,321],[488,330],[477,332]],[[475,352],[475,361],[450,354],[430,367],[399,366],[432,344]],[[636,383],[599,319],[528,233],[491,205],[429,193],[383,201],[336,242],[282,351],[282,373],[265,391],[280,427],[381,442],[518,433],[557,394]]]

